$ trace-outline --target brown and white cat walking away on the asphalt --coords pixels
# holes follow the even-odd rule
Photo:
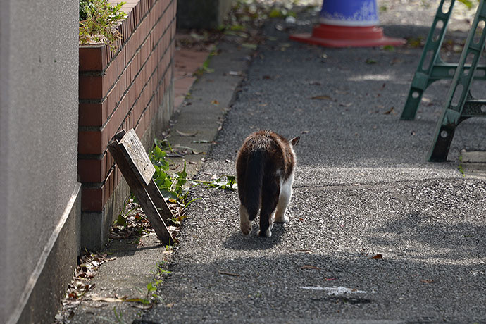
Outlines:
[[[274,219],[281,223],[289,221],[285,211],[292,197],[297,162],[293,148],[299,139],[289,141],[270,130],[260,130],[244,140],[236,162],[239,225],[244,235],[249,235],[258,210],[259,236],[272,236]]]

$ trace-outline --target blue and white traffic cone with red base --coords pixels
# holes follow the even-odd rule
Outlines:
[[[325,47],[372,47],[406,43],[386,37],[377,27],[376,0],[323,0],[319,25],[312,34],[294,34],[290,39]]]

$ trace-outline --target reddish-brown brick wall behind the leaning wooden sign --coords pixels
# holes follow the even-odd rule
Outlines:
[[[167,125],[173,109],[164,103],[173,91],[176,0],[125,1],[122,9],[128,17],[118,26],[123,35],[118,50],[103,44],[80,46],[82,212],[101,213],[120,183],[120,171],[106,149],[113,135],[135,128],[142,138],[154,118],[166,119],[158,120],[157,127]]]

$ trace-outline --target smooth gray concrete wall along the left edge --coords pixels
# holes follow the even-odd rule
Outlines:
[[[77,20],[77,1],[0,1],[0,323],[49,323],[73,274]]]

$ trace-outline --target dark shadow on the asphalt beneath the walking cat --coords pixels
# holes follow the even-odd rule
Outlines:
[[[272,229],[271,237],[256,236],[258,225],[253,224],[249,235],[243,235],[241,231],[234,232],[228,239],[223,242],[225,249],[235,250],[266,250],[271,249],[282,242],[282,236],[285,234],[285,226],[281,223],[275,223]]]

